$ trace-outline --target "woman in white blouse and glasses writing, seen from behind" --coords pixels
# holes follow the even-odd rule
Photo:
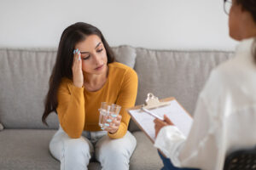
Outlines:
[[[154,120],[154,146],[172,161],[160,154],[163,169],[220,170],[230,152],[256,144],[256,1],[224,3],[231,5],[226,10],[230,37],[241,43],[235,58],[212,71],[197,101],[187,139],[166,116],[165,122]]]

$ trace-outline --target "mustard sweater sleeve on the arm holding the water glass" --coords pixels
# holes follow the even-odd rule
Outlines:
[[[137,98],[137,83],[137,73],[132,69],[128,69],[125,72],[116,102],[117,105],[122,107],[119,112],[119,115],[122,116],[122,120],[116,133],[108,133],[108,136],[111,139],[120,139],[125,136],[125,133],[127,132],[131,116],[127,113],[126,109],[134,106],[135,104]]]

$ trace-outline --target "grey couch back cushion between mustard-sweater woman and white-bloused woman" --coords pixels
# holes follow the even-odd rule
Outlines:
[[[193,116],[197,97],[210,71],[232,52],[222,51],[172,51],[137,48],[138,75],[137,105],[142,105],[149,92],[159,99],[175,97]],[[138,130],[134,122],[131,132]]]

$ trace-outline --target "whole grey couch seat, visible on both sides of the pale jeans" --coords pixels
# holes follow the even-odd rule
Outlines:
[[[0,133],[1,169],[60,169],[60,162],[49,153],[49,141],[55,130],[5,129]],[[143,132],[133,133],[137,148],[131,156],[131,170],[155,170],[162,167],[153,144]],[[102,169],[100,163],[90,162],[89,170]]]

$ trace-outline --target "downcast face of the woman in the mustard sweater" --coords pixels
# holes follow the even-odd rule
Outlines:
[[[100,75],[107,71],[108,57],[102,39],[90,35],[83,42],[78,42],[75,49],[81,52],[82,70],[87,74]]]

